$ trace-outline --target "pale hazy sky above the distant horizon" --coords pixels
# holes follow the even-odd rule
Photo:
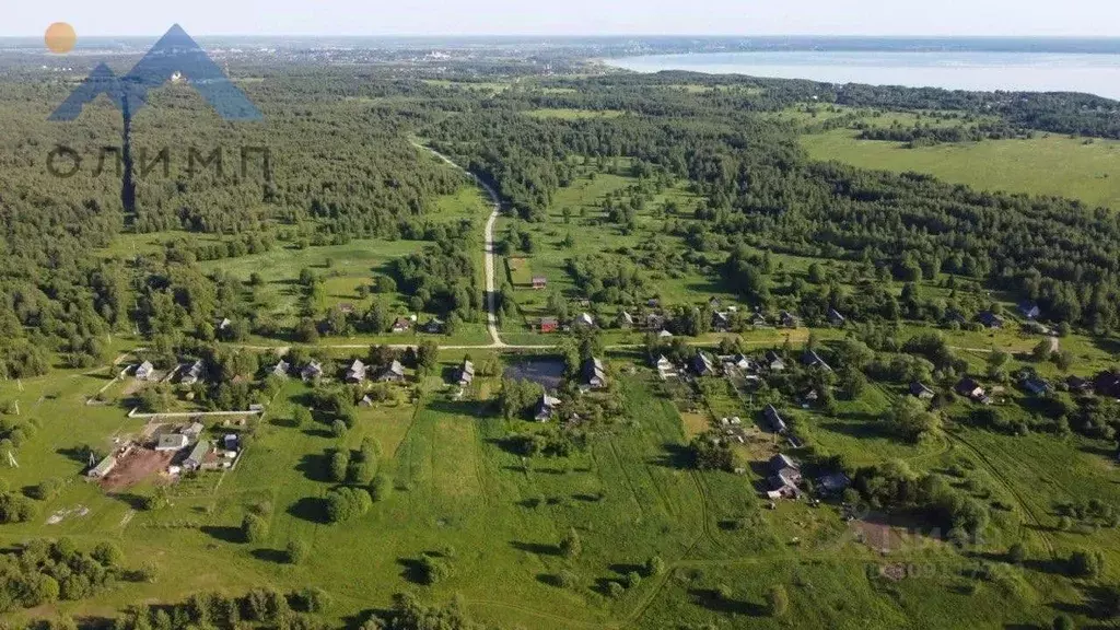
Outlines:
[[[1117,0],[0,0],[0,36],[1017,35],[1120,37]]]

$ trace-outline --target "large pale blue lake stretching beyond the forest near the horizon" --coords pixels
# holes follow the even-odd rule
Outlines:
[[[637,72],[683,70],[950,90],[1088,92],[1120,100],[1120,55],[962,52],[748,52],[608,59]]]

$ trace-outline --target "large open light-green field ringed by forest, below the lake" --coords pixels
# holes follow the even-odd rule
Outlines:
[[[802,136],[814,159],[865,168],[928,173],[981,191],[1058,195],[1090,206],[1120,209],[1120,141],[1063,136],[1027,140],[986,140],[906,148],[897,142],[859,140],[838,129]]]

